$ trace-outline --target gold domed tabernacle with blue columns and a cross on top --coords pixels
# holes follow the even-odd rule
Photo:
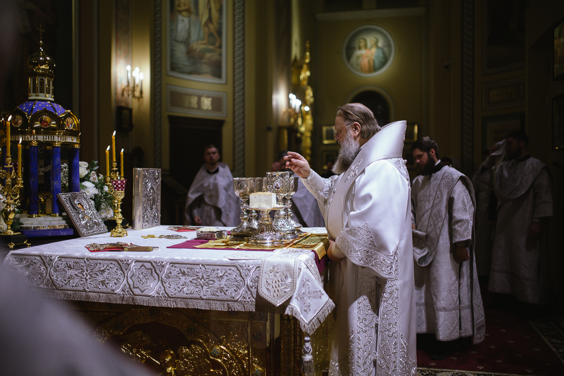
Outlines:
[[[51,197],[50,216],[61,215],[57,200],[57,195],[61,193],[61,147],[69,149],[68,154],[63,153],[68,155],[68,191],[80,191],[80,120],[72,111],[65,110],[54,102],[55,62],[43,51],[41,25],[38,29],[39,51],[27,61],[28,100],[3,115],[2,119],[5,125],[2,129],[5,131],[2,133],[3,157],[10,155],[8,148],[11,142],[21,140],[23,149],[20,185],[25,189],[20,201],[25,206],[21,208],[25,215],[20,215],[20,218],[41,217],[40,195]],[[43,158],[40,158],[41,154]],[[41,164],[42,160],[46,161],[45,165]],[[18,168],[21,169],[20,166]],[[39,170],[43,172],[43,192],[40,191]],[[42,225],[41,221],[50,222],[51,218],[43,216],[33,223]],[[51,232],[46,230],[46,236],[51,236]],[[25,230],[23,233],[25,234]]]

